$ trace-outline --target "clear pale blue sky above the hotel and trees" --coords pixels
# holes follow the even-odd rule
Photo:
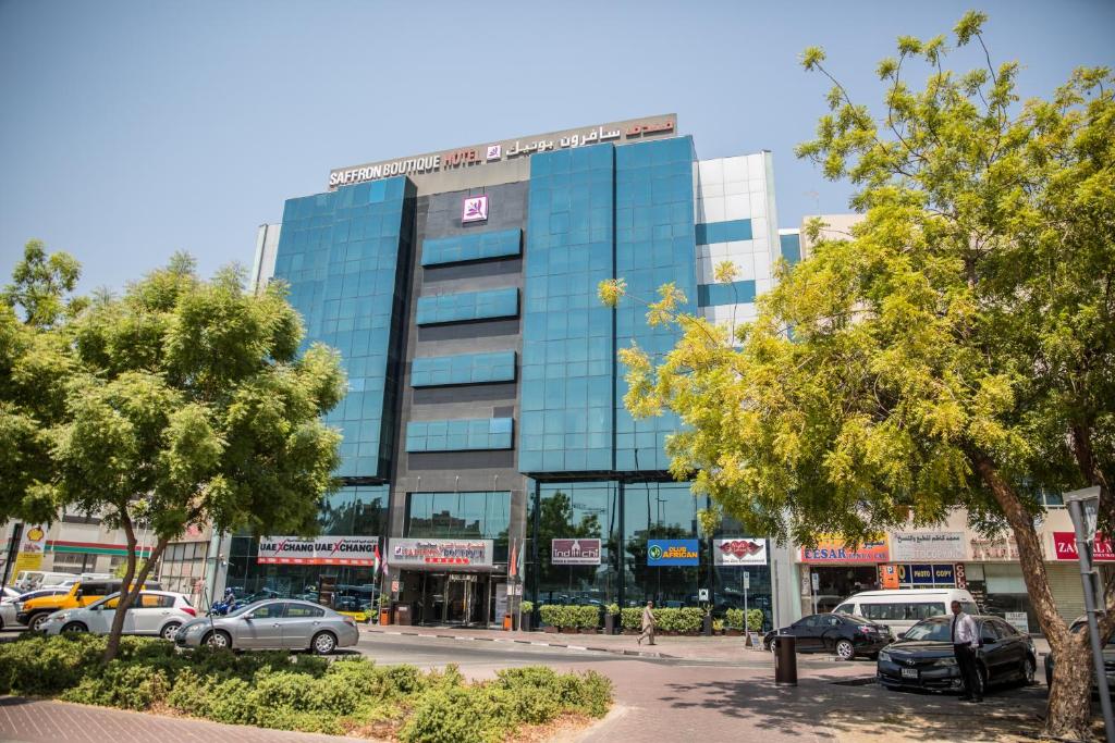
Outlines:
[[[698,155],[770,149],[780,226],[846,209],[795,160],[825,81],[878,100],[894,38],[971,2],[0,0],[0,281],[39,237],[123,287],[177,250],[251,264],[255,227],[331,167],[677,111]],[[1115,66],[1109,0],[983,2],[1025,95]],[[967,69],[971,55],[953,58]]]

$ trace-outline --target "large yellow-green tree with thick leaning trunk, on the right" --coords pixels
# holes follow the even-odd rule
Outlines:
[[[734,335],[678,314],[663,287],[649,321],[677,323],[680,340],[662,359],[621,352],[624,402],[681,418],[675,476],[696,473],[695,490],[753,534],[857,542],[957,508],[1009,529],[1057,658],[1045,733],[1083,740],[1087,637],[1057,614],[1035,521],[1043,490],[1095,485],[1115,527],[1115,80],[1078,69],[1022,102],[1019,67],[991,63],[985,22],[968,13],[953,49],[899,39],[874,113],[822,50],[805,52],[833,88],[798,155],[856,186],[863,222],[782,265]],[[961,49],[979,67],[958,75],[944,60]],[[924,87],[906,81],[914,65]],[[623,293],[601,286],[605,302]]]

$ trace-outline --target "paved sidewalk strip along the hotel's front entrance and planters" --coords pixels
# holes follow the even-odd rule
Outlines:
[[[440,637],[464,642],[521,643],[543,647],[568,647],[578,651],[598,651],[636,657],[680,658],[687,661],[746,661],[759,657],[770,658],[762,651],[744,646],[743,637],[727,636],[670,636],[659,635],[656,645],[638,644],[634,635],[581,635],[549,632],[505,632],[502,629],[468,629],[460,627],[410,627],[405,625],[361,625],[361,632],[382,633],[388,635],[407,635],[411,637]],[[1049,652],[1049,643],[1045,638],[1034,638],[1034,648],[1038,653],[1038,666]],[[835,656],[817,654],[811,657],[815,661],[828,659],[841,663]]]

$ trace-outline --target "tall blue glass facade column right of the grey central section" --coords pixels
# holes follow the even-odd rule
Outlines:
[[[531,158],[523,472],[612,469],[615,345],[612,312],[600,304],[597,286],[613,275],[614,187],[611,145]]]

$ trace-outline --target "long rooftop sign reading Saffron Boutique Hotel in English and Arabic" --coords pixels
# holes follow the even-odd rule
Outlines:
[[[678,117],[662,114],[647,118],[612,121],[583,129],[566,129],[549,134],[503,139],[483,145],[460,147],[415,157],[367,163],[329,172],[329,189],[351,186],[366,180],[378,180],[398,175],[427,175],[492,166],[522,160],[534,153],[571,149],[600,143],[618,145],[653,139],[677,134]]]

